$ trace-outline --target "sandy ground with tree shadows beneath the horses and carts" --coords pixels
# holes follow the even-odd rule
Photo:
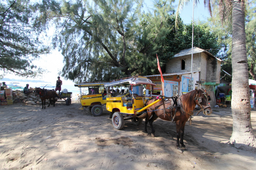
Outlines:
[[[256,153],[228,144],[232,134],[231,108],[200,113],[185,126],[188,150],[176,149],[175,124],[157,119],[156,137],[143,132],[144,121],[124,129],[113,128],[108,111],[94,117],[89,109],[78,110],[57,102],[40,105],[0,106],[0,170],[157,170],[157,169],[255,169]],[[256,112],[252,111],[256,132]],[[148,132],[150,126],[148,124]],[[254,167],[254,168],[253,168]]]

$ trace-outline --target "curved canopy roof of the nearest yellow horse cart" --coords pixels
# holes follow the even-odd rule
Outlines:
[[[152,81],[146,77],[142,77],[142,76],[134,76],[132,78],[122,78],[119,80],[114,80],[111,81],[110,83],[105,84],[105,87],[111,87],[114,85],[121,85],[124,87],[127,87],[128,85],[152,85],[152,86],[156,86],[154,83],[152,83]]]

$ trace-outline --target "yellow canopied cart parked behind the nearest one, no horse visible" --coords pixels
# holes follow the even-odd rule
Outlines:
[[[102,106],[107,103],[106,98],[104,98],[104,85],[108,82],[86,82],[75,84],[76,87],[80,88],[80,102],[81,106],[79,109],[83,110],[89,108],[90,112],[94,116],[100,116],[103,112]],[[84,88],[87,94],[82,90]],[[96,94],[92,94],[91,89],[95,91]]]

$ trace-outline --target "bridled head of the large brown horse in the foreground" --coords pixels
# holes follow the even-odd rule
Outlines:
[[[206,92],[206,90],[197,90],[196,89],[196,104],[203,110],[204,115],[211,115],[212,109],[209,103],[211,100],[210,95]]]

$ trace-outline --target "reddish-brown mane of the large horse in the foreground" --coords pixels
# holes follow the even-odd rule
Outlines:
[[[198,97],[200,97],[202,95],[202,93],[204,93],[203,90],[198,90]],[[194,110],[196,107],[196,102],[195,102],[196,94],[197,94],[196,90],[193,90],[191,92],[188,92],[188,93],[180,96],[183,109],[189,115],[193,115],[192,110]]]

